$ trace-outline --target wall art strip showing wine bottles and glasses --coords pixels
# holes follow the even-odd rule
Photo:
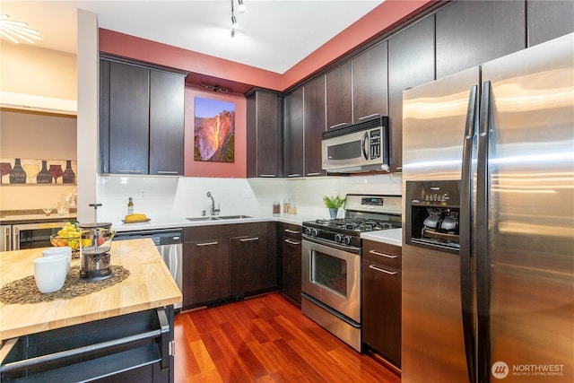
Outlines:
[[[75,160],[30,160],[1,158],[2,185],[47,185],[76,183]]]

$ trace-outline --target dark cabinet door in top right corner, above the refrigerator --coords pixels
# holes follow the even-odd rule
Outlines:
[[[571,0],[528,0],[526,17],[528,47],[574,32],[574,2]]]

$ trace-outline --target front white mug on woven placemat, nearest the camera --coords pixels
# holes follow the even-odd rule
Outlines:
[[[68,258],[65,254],[34,259],[34,281],[39,292],[57,292],[65,283]]]

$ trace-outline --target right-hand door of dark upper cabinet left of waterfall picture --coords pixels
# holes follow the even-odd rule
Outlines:
[[[150,174],[183,174],[184,77],[150,71]]]

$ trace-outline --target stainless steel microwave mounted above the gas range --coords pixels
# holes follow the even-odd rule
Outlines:
[[[388,117],[378,116],[323,133],[321,155],[327,173],[389,171]]]

